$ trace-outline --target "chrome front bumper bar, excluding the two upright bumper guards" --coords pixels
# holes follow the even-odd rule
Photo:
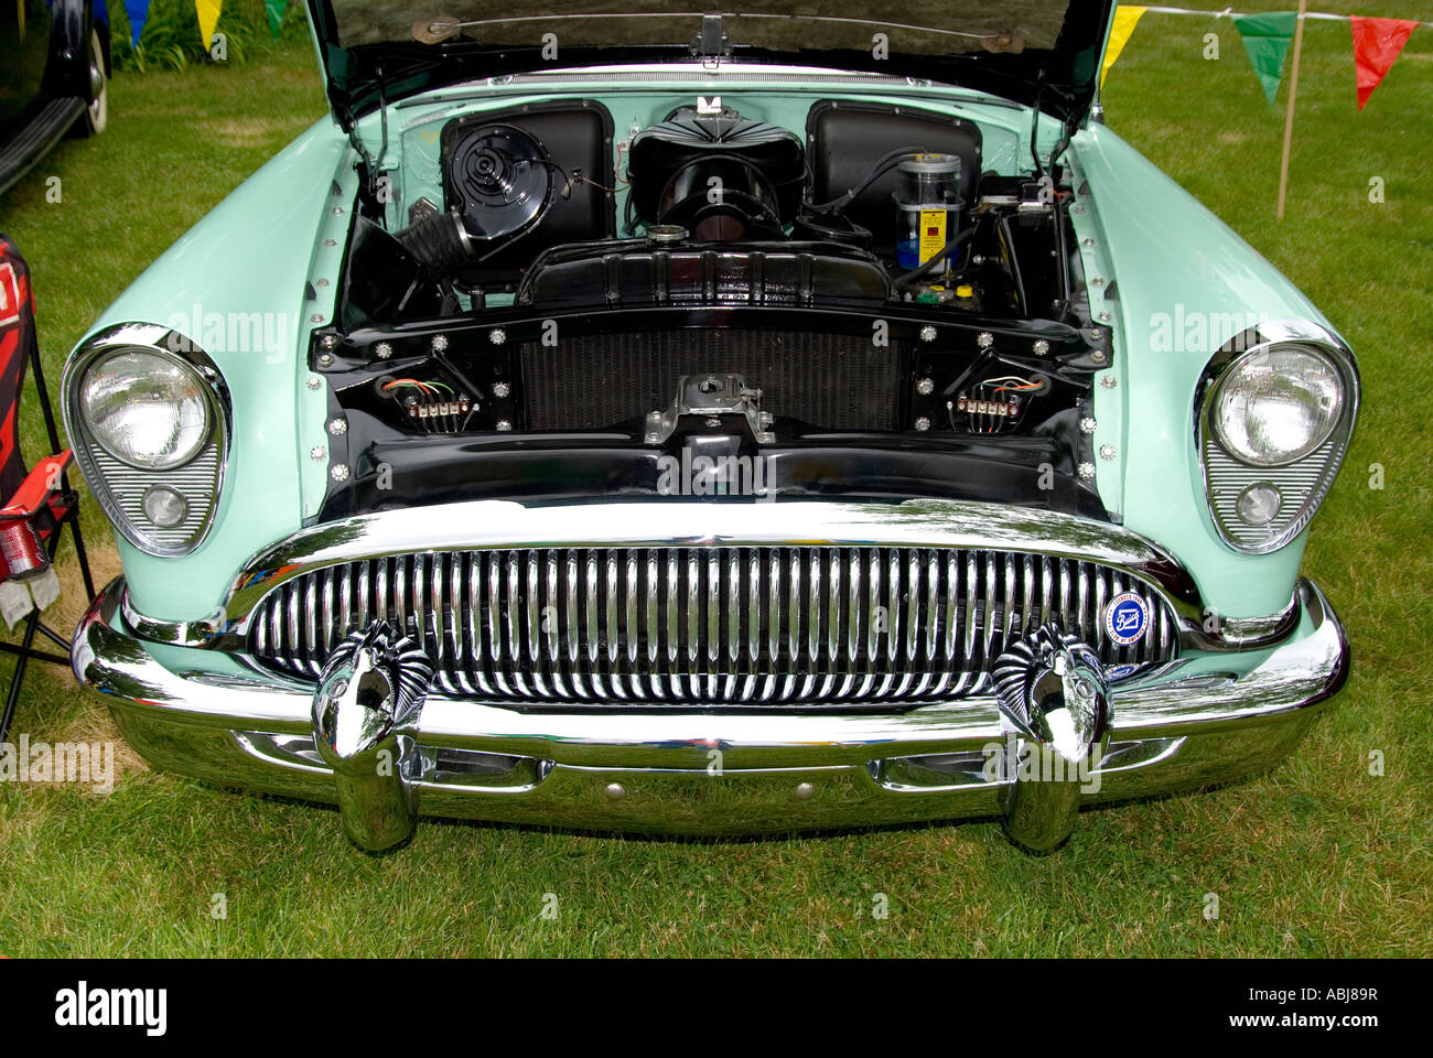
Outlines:
[[[160,768],[226,787],[335,801],[314,745],[312,691],[222,652],[132,632],[118,579],[80,621],[79,678]],[[1224,783],[1271,767],[1344,682],[1348,642],[1301,581],[1275,642],[1187,651],[1111,692],[1108,751],[1083,803]],[[751,834],[995,817],[1005,738],[993,697],[890,715],[527,711],[430,697],[416,741],[418,810],[609,831]],[[1096,788],[1098,787],[1098,788]]]

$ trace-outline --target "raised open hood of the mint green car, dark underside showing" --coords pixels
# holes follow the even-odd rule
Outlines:
[[[853,17],[838,0],[668,11],[653,0],[308,0],[345,129],[384,100],[480,77],[616,63],[787,63],[920,77],[1089,112],[1115,0],[901,0]]]

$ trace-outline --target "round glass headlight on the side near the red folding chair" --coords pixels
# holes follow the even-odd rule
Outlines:
[[[95,440],[142,470],[193,459],[209,440],[209,397],[188,364],[143,348],[96,361],[80,383],[79,410]]]

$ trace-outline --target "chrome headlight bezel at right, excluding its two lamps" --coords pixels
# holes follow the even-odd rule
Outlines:
[[[1284,345],[1300,347],[1334,368],[1341,391],[1337,419],[1328,434],[1303,456],[1281,463],[1247,462],[1230,450],[1215,424],[1221,383],[1250,357]],[[1209,516],[1225,545],[1247,555],[1267,555],[1304,530],[1348,450],[1358,397],[1358,364],[1353,353],[1326,327],[1307,320],[1261,323],[1214,354],[1195,390],[1194,433]],[[1240,495],[1254,485],[1271,485],[1283,497],[1275,516],[1262,525],[1245,522],[1237,510]]]

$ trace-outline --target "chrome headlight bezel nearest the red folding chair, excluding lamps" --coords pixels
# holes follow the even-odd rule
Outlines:
[[[82,387],[89,370],[132,350],[182,364],[201,381],[206,436],[191,456],[173,466],[139,466],[112,453],[96,439],[83,413]],[[75,446],[75,460],[120,536],[146,555],[186,555],[198,548],[214,525],[234,432],[229,391],[214,360],[189,337],[169,327],[118,324],[80,344],[64,366],[62,389],[62,414]],[[175,526],[158,526],[145,518],[143,497],[160,486],[179,493],[188,505],[186,516]]]

